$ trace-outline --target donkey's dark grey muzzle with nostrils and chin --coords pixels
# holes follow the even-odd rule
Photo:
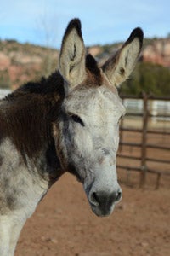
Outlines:
[[[122,199],[122,189],[117,189],[112,193],[96,191],[91,193],[89,201],[92,210],[98,216],[110,215],[116,203]]]

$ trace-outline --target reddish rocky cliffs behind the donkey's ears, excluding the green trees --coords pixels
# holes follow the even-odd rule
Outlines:
[[[121,44],[89,47],[100,63]],[[57,68],[59,51],[14,40],[0,41],[0,86],[16,88],[31,79],[39,79]],[[144,43],[141,61],[170,67],[170,38],[150,39]]]

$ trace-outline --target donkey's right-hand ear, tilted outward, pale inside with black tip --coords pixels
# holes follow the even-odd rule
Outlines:
[[[142,48],[143,37],[142,30],[135,28],[116,55],[105,62],[102,69],[111,84],[119,86],[132,73]]]

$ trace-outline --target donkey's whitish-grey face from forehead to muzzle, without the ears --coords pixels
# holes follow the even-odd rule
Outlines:
[[[125,108],[119,96],[103,85],[72,90],[65,99],[65,112],[68,116],[76,114],[83,124],[70,117],[69,161],[77,169],[93,211],[99,216],[108,215],[122,193],[116,177],[116,151],[119,119],[125,113]],[[94,195],[101,193],[111,195],[112,201],[110,199],[108,207],[101,208],[96,203]]]

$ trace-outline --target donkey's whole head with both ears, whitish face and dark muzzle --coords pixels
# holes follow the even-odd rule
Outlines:
[[[111,214],[122,198],[116,151],[125,108],[116,87],[132,73],[142,41],[143,32],[134,29],[116,55],[99,68],[86,55],[79,20],[71,20],[63,38],[59,72],[65,81],[65,100],[54,124],[56,150],[63,168],[82,182],[98,216]]]

